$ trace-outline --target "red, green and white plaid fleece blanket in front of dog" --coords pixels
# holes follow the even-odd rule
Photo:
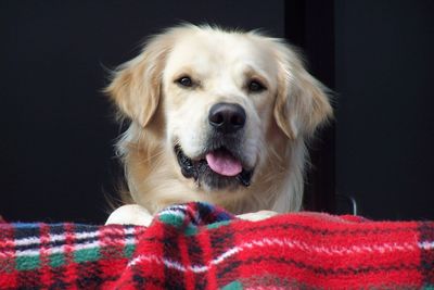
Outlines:
[[[150,227],[0,224],[0,289],[434,289],[434,223],[205,203]]]

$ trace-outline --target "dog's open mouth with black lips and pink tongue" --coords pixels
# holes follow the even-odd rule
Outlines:
[[[253,169],[243,167],[240,159],[226,147],[210,150],[202,157],[188,157],[179,144],[175,146],[175,153],[181,173],[186,178],[194,178],[199,184],[205,182],[210,188],[226,188],[235,184],[248,187]]]

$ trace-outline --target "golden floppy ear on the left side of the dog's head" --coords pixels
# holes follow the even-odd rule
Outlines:
[[[112,83],[104,89],[120,112],[142,127],[158,105],[168,50],[169,41],[163,35],[152,38],[137,58],[116,68]]]

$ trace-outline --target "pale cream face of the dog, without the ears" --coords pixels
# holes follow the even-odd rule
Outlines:
[[[267,47],[237,34],[196,31],[177,41],[162,101],[186,178],[206,191],[251,184],[272,119],[276,68]]]

